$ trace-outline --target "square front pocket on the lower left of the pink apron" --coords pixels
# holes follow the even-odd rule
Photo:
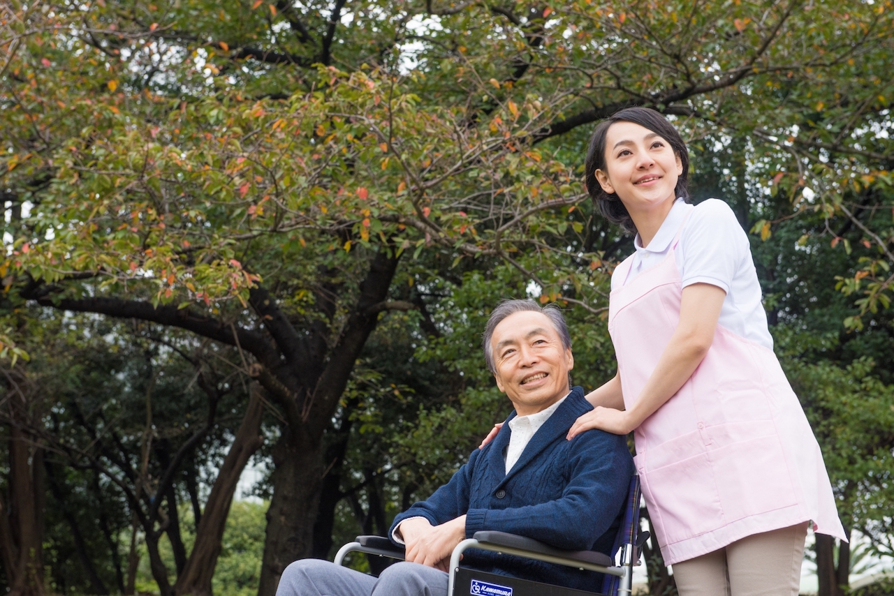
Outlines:
[[[660,543],[686,540],[725,524],[708,453],[654,470],[640,470],[640,482],[649,515],[661,534]]]

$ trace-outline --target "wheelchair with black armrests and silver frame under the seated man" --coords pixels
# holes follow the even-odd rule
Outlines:
[[[591,550],[561,550],[544,542],[524,536],[503,532],[476,532],[474,537],[457,544],[450,559],[450,579],[447,596],[628,596],[633,581],[633,567],[639,565],[639,550],[649,538],[648,532],[639,532],[639,476],[630,479],[627,506],[623,522],[615,537],[612,553],[620,557],[615,564],[608,555]],[[583,592],[559,585],[533,582],[529,580],[496,575],[460,567],[463,551],[468,549],[492,550],[497,553],[533,558],[547,563],[556,563],[578,569],[596,571],[603,574],[603,585],[599,592]],[[335,555],[335,565],[343,565],[350,552],[363,552],[380,557],[403,560],[404,550],[394,546],[392,541],[382,536],[358,536]],[[596,586],[594,586],[596,587]]]

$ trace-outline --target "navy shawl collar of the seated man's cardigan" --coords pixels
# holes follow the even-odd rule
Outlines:
[[[557,437],[564,437],[568,433],[569,428],[571,428],[571,424],[574,424],[574,421],[578,419],[578,416],[585,414],[591,409],[593,407],[584,399],[583,388],[572,388],[568,397],[561,403],[561,406],[552,413],[552,416],[544,422],[537,432],[534,433],[534,436],[531,437],[531,440],[528,441],[525,450],[521,452],[519,461],[515,463],[515,466],[512,466],[509,474],[506,474],[506,461],[503,458],[503,452],[509,447],[512,431],[509,424],[504,423],[500,432],[497,433],[497,436],[491,443],[490,453],[486,455],[494,483],[503,484],[512,476],[518,474],[532,459],[546,449],[552,441],[555,441]],[[506,418],[506,423],[515,416],[516,412],[513,410],[510,416]]]

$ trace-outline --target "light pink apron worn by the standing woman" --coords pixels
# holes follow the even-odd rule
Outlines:
[[[609,332],[628,408],[679,323],[680,231],[661,263],[611,292]],[[632,261],[619,265],[620,279]],[[770,349],[718,325],[696,372],[634,436],[668,565],[807,520],[844,538],[820,447]]]

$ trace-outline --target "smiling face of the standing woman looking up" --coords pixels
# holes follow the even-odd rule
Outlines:
[[[679,155],[657,132],[634,122],[615,122],[605,135],[605,169],[595,175],[603,190],[617,194],[635,217],[670,208],[682,173]]]

